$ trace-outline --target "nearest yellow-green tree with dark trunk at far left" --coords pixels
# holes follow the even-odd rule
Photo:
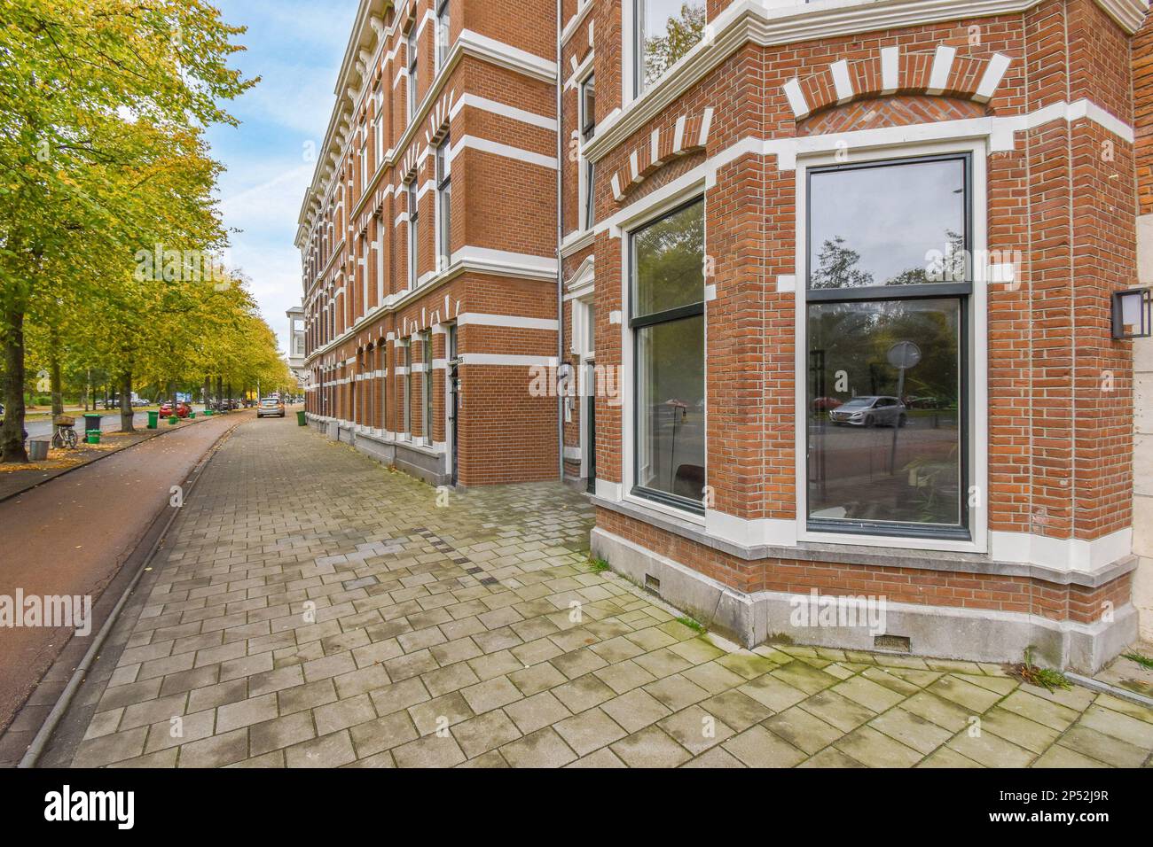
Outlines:
[[[228,67],[243,29],[204,0],[2,0],[0,25],[0,461],[23,447],[25,325],[45,301],[123,294],[121,271],[167,229],[143,188],[255,81]],[[157,144],[161,154],[157,156]],[[165,158],[167,156],[167,158]],[[160,162],[164,162],[161,166]],[[214,172],[197,172],[210,196]],[[205,183],[204,180],[208,180]],[[188,247],[188,244],[183,244]]]

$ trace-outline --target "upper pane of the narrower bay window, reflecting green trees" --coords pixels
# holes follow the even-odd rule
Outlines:
[[[633,234],[633,317],[704,300],[704,202]]]

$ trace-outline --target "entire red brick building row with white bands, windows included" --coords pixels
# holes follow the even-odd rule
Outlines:
[[[1093,670],[1136,637],[1111,295],[1138,280],[1144,0],[455,0],[458,63],[420,46],[409,77],[437,9],[364,6],[302,215],[318,425],[422,472],[444,456],[436,481],[451,456],[466,485],[559,464],[593,492],[595,554],[747,645]],[[447,271],[402,202],[431,180],[412,207],[437,217],[440,133],[470,139]],[[559,406],[529,388],[558,355]]]

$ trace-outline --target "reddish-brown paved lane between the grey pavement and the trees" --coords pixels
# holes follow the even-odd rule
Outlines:
[[[0,502],[0,597],[22,590],[24,597],[89,596],[95,605],[157,515],[171,508],[172,486],[225,432],[254,417],[234,413],[142,441]],[[71,633],[0,627],[0,729]]]

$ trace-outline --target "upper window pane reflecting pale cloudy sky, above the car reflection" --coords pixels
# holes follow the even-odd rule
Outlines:
[[[808,287],[969,281],[965,158],[811,172]]]

